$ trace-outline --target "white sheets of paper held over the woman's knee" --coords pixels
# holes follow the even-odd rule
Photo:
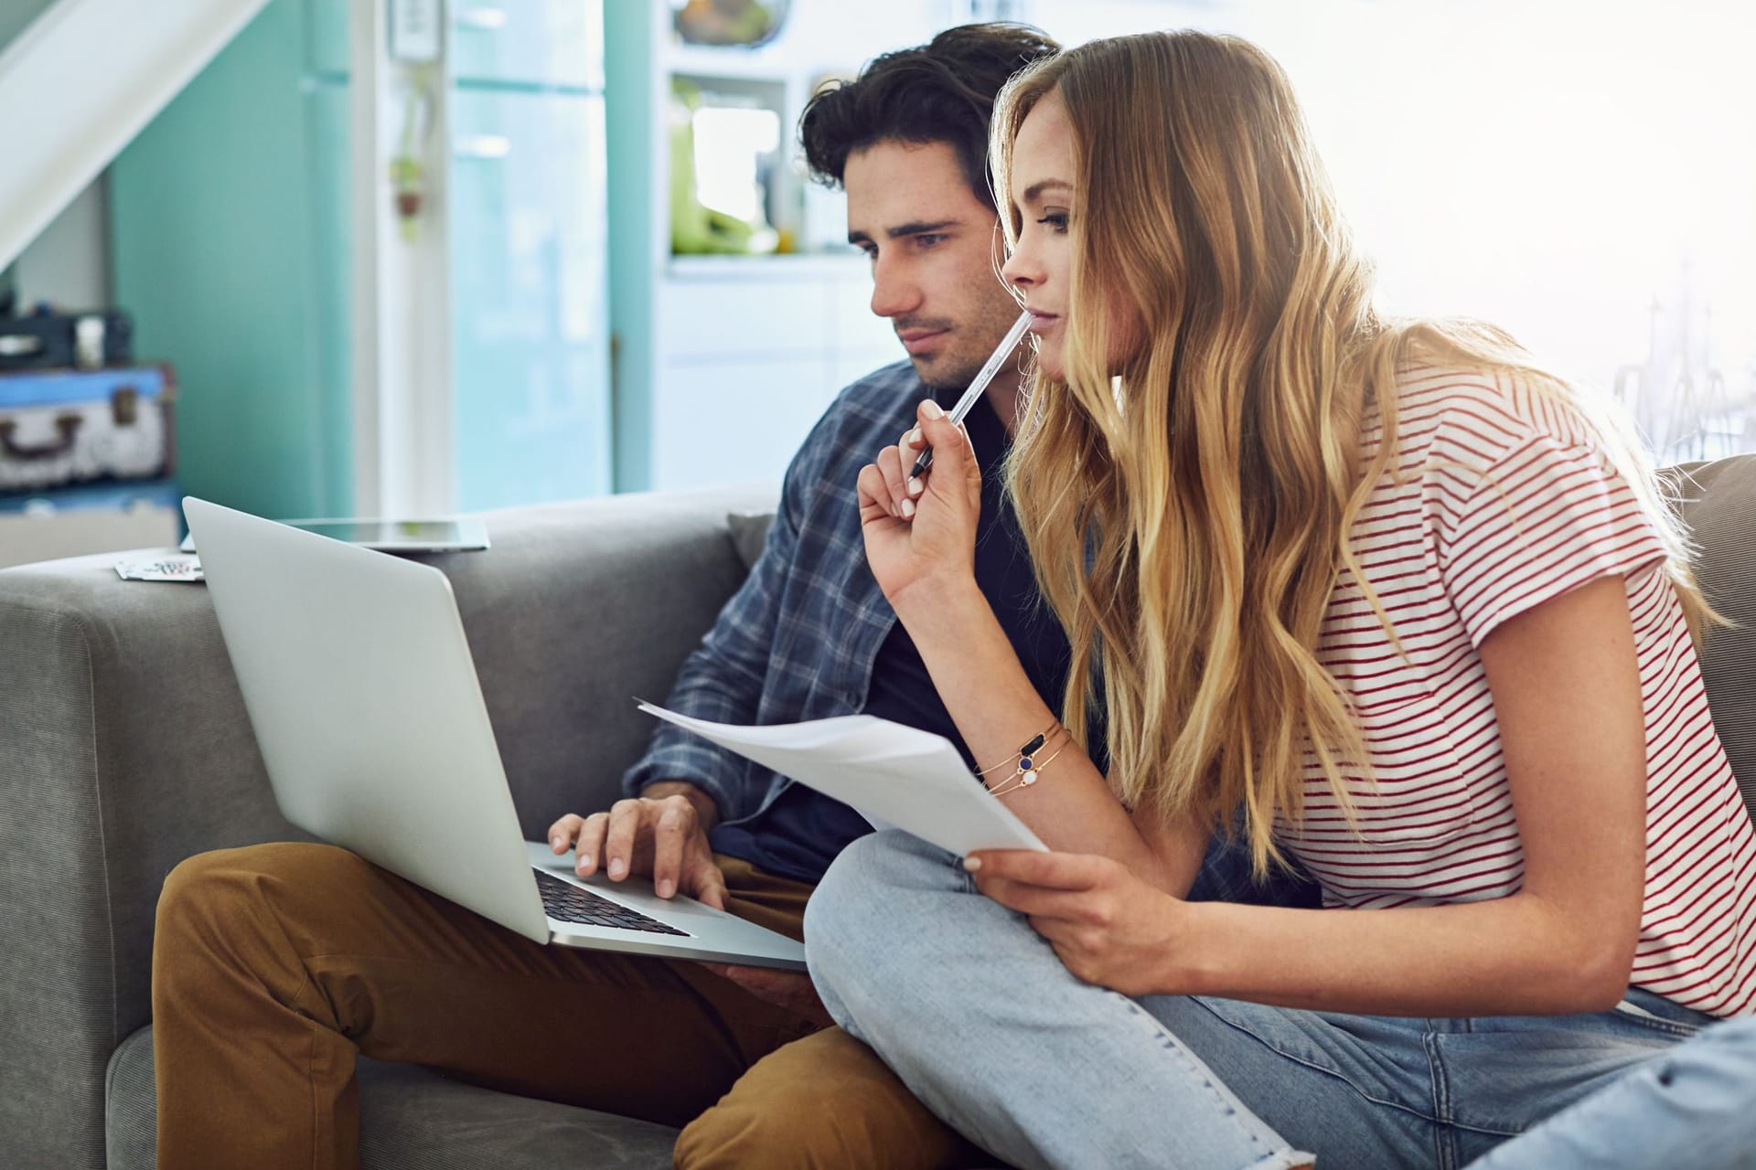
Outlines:
[[[1036,833],[971,775],[943,735],[876,716],[760,728],[641,710],[815,788],[878,828],[896,826],[959,856],[975,849],[1047,851]]]

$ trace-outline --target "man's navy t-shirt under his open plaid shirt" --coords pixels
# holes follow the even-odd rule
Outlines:
[[[1068,639],[1036,593],[1024,535],[1006,498],[1001,463],[1011,437],[985,398],[964,419],[964,428],[982,467],[976,584],[1011,639],[1036,693],[1050,710],[1061,710],[1069,661]],[[853,489],[852,484],[848,489]],[[969,749],[939,702],[927,665],[901,621],[890,628],[873,660],[866,714],[943,735],[969,761]],[[792,784],[766,810],[741,824],[713,828],[708,840],[716,853],[743,858],[769,874],[815,882],[838,853],[869,831],[871,823],[848,805],[804,784]]]

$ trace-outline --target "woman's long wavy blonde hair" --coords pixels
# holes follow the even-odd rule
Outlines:
[[[1710,617],[1617,421],[1498,330],[1373,310],[1371,267],[1273,58],[1234,37],[1145,33],[1022,72],[992,123],[1008,246],[1011,144],[1052,91],[1075,139],[1068,332],[1008,475],[1073,644],[1062,719],[1083,742],[1101,702],[1126,805],[1240,831],[1257,874],[1284,860],[1275,816],[1299,821],[1306,758],[1352,810],[1345,777],[1370,779],[1370,758],[1315,647],[1343,567],[1394,639],[1347,535],[1389,472],[1412,361],[1512,374],[1565,403],[1668,540],[1691,630]],[[1119,368],[1113,333],[1131,354]]]

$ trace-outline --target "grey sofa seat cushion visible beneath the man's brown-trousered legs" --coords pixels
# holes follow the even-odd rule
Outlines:
[[[109,1170],[153,1170],[153,1030],[111,1058],[105,1084]],[[676,1130],[527,1096],[478,1089],[414,1065],[360,1061],[363,1170],[657,1170]]]

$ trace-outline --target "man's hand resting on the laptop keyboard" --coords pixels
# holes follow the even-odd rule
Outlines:
[[[637,800],[618,800],[609,812],[588,817],[569,812],[555,821],[548,831],[550,849],[557,856],[576,849],[579,877],[599,868],[613,882],[644,874],[651,875],[660,898],[681,889],[723,910],[725,875],[708,847],[713,812],[713,800],[694,784],[653,784]]]

